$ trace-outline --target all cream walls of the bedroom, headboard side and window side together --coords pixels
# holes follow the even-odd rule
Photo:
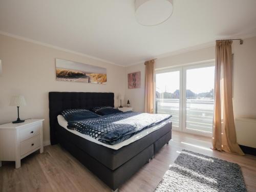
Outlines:
[[[256,118],[256,37],[244,39],[244,44],[233,42],[234,53],[234,116]],[[88,63],[107,69],[105,85],[55,80],[55,58]],[[156,68],[184,65],[215,58],[215,47],[159,58]],[[20,108],[20,117],[44,118],[44,140],[49,142],[49,91],[125,93],[134,111],[144,111],[144,63],[126,68],[111,65],[81,55],[33,44],[0,35],[0,124],[16,119],[16,108],[9,106],[12,95],[24,95],[27,106]],[[141,71],[141,88],[128,89],[127,74]],[[115,106],[119,100],[115,99]]]

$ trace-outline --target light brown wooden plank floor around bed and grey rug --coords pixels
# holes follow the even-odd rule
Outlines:
[[[256,157],[231,155],[210,150],[209,138],[173,132],[173,139],[155,158],[123,184],[120,191],[153,191],[182,149],[238,163],[248,191],[256,191]],[[0,191],[111,191],[86,167],[59,145],[46,146],[22,160],[22,167],[3,162],[0,167]]]

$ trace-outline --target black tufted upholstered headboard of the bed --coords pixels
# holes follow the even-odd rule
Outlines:
[[[92,106],[112,106],[114,108],[114,93],[92,92],[49,92],[49,117],[51,144],[58,143],[55,127],[57,116],[66,109],[90,109]]]

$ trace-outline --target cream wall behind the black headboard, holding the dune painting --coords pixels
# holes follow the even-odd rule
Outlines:
[[[88,63],[107,69],[106,84],[55,80],[55,58]],[[44,118],[44,141],[49,143],[48,92],[114,92],[124,94],[124,68],[84,56],[0,35],[0,124],[17,118],[17,108],[9,106],[13,95],[24,95],[27,106],[20,107],[20,118]],[[119,102],[115,99],[115,105]]]

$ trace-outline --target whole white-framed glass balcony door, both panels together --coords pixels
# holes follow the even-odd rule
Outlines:
[[[173,129],[211,135],[214,63],[156,71],[155,112],[172,115]]]

